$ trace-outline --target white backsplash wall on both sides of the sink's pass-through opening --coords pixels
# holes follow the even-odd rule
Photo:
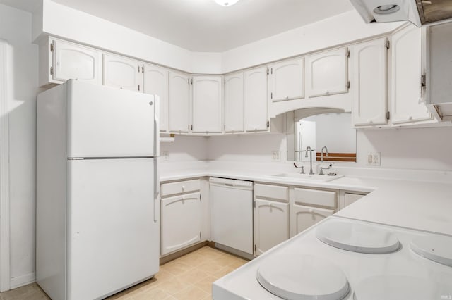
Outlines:
[[[357,163],[347,166],[452,170],[452,127],[357,131]],[[271,161],[271,151],[287,151],[285,135],[237,135],[208,140],[208,159],[217,161]],[[368,152],[381,152],[381,166],[366,165]],[[338,163],[341,164],[341,163]]]

